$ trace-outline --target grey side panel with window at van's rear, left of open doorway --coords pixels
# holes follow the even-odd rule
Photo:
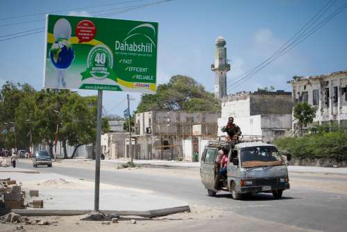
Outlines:
[[[216,160],[217,149],[208,148],[201,159],[201,181],[206,189],[214,189],[214,160]]]

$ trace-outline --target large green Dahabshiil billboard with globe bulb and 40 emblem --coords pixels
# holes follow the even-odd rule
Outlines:
[[[46,15],[44,88],[155,93],[158,23]]]

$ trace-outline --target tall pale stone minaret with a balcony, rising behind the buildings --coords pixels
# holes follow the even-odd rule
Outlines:
[[[221,36],[217,38],[214,48],[214,64],[211,70],[214,72],[214,97],[221,100],[226,97],[226,72],[230,70],[230,64],[226,58],[226,40]]]

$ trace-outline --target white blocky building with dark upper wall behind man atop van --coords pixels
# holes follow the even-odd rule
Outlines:
[[[234,117],[243,135],[261,135],[265,142],[290,135],[291,92],[257,91],[228,95],[221,101],[218,135],[226,135],[221,128]]]

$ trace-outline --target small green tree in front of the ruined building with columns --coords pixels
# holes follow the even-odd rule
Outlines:
[[[310,106],[307,102],[296,103],[293,108],[294,118],[296,119],[296,125],[298,126],[299,134],[303,135],[303,128],[313,122],[316,117],[316,108]]]

